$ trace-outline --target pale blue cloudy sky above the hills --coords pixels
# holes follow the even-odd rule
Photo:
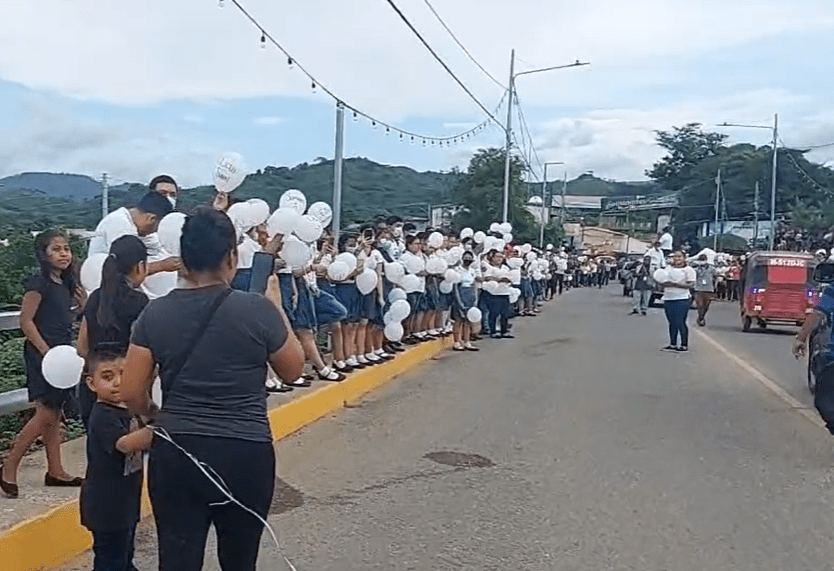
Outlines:
[[[437,136],[485,119],[387,0],[240,1],[319,81],[372,116]],[[425,0],[395,3],[493,109],[502,87]],[[147,181],[170,172],[189,186],[209,182],[225,150],[252,169],[332,157],[334,102],[275,48],[260,49],[258,29],[224,4],[0,0],[0,176],[107,171]],[[431,4],[501,83],[512,48],[517,71],[591,62],[517,82],[539,159],[564,161],[571,178],[642,179],[661,155],[653,130],[686,122],[768,125],[778,112],[786,144],[834,142],[830,0]],[[770,138],[726,132],[732,141]],[[345,153],[441,170],[502,140],[493,126],[466,144],[423,148],[348,116]],[[834,164],[834,146],[809,158]]]

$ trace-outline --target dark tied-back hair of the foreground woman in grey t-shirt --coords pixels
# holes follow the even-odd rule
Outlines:
[[[186,217],[180,238],[180,255],[186,269],[195,272],[219,269],[223,260],[236,250],[235,227],[224,212],[201,206]]]

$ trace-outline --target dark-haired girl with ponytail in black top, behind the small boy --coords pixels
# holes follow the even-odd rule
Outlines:
[[[103,343],[111,351],[127,352],[133,322],[148,304],[139,288],[148,276],[148,249],[136,236],[122,236],[110,245],[101,269],[101,287],[90,294],[78,332],[78,354],[87,358]],[[87,428],[96,395],[86,383],[78,386],[81,422]]]

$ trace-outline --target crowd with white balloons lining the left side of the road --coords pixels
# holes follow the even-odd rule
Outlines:
[[[100,222],[80,268],[66,236],[40,234],[40,271],[26,282],[36,412],[0,467],[0,489],[19,496],[20,462],[41,438],[45,485],[81,488],[97,570],[133,569],[144,452],[160,569],[200,569],[211,524],[221,566],[253,569],[275,480],[267,393],[339,382],[446,336],[452,350],[478,351],[481,339],[512,338],[513,318],[538,315],[574,280],[601,284],[610,270],[517,244],[506,223],[418,231],[393,216],[336,238],[329,207],[300,205],[298,191],[274,212],[218,194],[187,216],[174,210],[178,194],[173,178],[155,178],[135,206]],[[82,382],[60,388],[43,362],[73,343],[76,325]],[[87,431],[84,478],[61,459],[70,409]]]

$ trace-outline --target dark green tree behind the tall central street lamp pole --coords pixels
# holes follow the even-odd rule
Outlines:
[[[452,200],[463,208],[453,224],[486,229],[504,214],[504,149],[480,149],[469,161],[469,167],[452,188]],[[522,178],[525,167],[521,160],[510,157],[510,189],[507,208],[508,221],[513,225],[517,242],[538,241],[538,226],[526,208],[527,184]]]

